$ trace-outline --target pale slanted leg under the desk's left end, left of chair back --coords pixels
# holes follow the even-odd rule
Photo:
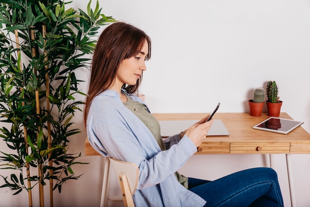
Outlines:
[[[100,207],[107,207],[108,194],[109,194],[110,160],[108,157],[103,158],[104,158],[103,186],[102,186]]]

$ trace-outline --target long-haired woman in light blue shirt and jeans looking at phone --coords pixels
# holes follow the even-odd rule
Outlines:
[[[187,178],[177,170],[206,138],[207,117],[162,140],[158,121],[137,96],[151,58],[151,40],[140,29],[113,23],[101,34],[92,62],[85,106],[87,135],[103,156],[134,162],[137,207],[283,207],[277,175],[255,168],[215,181]]]

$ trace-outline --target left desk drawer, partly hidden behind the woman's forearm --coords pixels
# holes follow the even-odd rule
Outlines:
[[[229,154],[230,143],[202,143],[196,154]]]

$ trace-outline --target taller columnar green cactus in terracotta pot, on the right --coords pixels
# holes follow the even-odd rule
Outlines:
[[[279,100],[278,96],[278,86],[276,82],[273,80],[269,80],[266,86],[267,93],[267,112],[268,116],[278,117],[280,116],[282,101]]]

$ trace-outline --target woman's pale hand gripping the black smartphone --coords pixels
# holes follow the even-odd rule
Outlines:
[[[211,125],[213,124],[212,119],[206,122],[208,117],[209,116],[204,117],[202,120],[200,120],[187,130],[182,132],[180,134],[180,137],[182,138],[184,135],[186,135],[193,141],[195,146],[198,147],[206,138],[207,132],[209,131]]]

